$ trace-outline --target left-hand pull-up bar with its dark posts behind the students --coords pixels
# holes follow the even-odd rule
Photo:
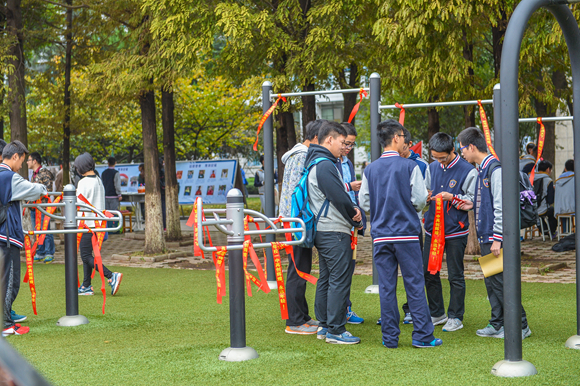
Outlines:
[[[378,77],[378,74],[373,74]],[[371,75],[371,85],[372,85],[372,78]],[[371,86],[372,87],[372,86]],[[270,108],[272,107],[272,99],[278,98],[274,105],[278,103],[279,99],[284,98],[285,101],[286,97],[299,97],[299,96],[311,96],[311,95],[330,95],[330,94],[352,94],[352,93],[362,93],[369,91],[368,88],[351,88],[351,89],[343,89],[343,90],[323,90],[323,91],[303,91],[303,92],[289,92],[289,93],[282,93],[276,94],[272,92],[272,83],[270,81],[265,81],[262,83],[262,110],[264,115],[267,113],[269,114],[267,119],[264,122],[264,201],[265,201],[265,212],[266,216],[270,218],[275,217],[275,201],[274,201],[274,123],[273,118],[271,116],[272,111]],[[373,91],[370,91],[370,98],[371,98],[371,106],[373,98],[379,100],[380,98],[380,79],[379,79],[379,93],[373,95]],[[371,108],[372,112],[372,108]],[[371,114],[372,117],[372,114]],[[375,124],[375,130],[376,125]],[[371,118],[371,127],[373,127],[373,121]],[[255,149],[254,149],[255,150]],[[274,241],[273,234],[266,235],[266,242]],[[272,251],[266,250],[266,255],[268,259],[268,285],[270,288],[276,288],[276,280],[275,280],[275,272],[274,272],[274,264],[272,263]],[[373,266],[374,272],[374,266]],[[377,282],[378,284],[378,282]],[[378,286],[377,286],[377,293],[378,293]]]

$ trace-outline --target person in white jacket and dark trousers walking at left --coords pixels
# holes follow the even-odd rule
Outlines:
[[[77,197],[82,194],[96,209],[100,211],[105,210],[105,188],[103,182],[95,173],[95,161],[93,157],[89,153],[79,155],[75,159],[75,167],[82,176],[77,186]],[[78,203],[81,202],[81,200],[78,200]],[[82,216],[82,213],[78,212],[77,216]],[[88,216],[92,217],[90,213]],[[85,224],[89,228],[95,227],[93,220],[87,220]],[[94,294],[93,286],[91,285],[91,274],[95,268],[92,237],[93,235],[91,233],[83,233],[79,244],[84,271],[83,284],[79,288],[79,295]],[[123,274],[120,272],[111,272],[103,265],[103,275],[108,279],[109,285],[111,286],[111,295],[115,295],[119,290]]]

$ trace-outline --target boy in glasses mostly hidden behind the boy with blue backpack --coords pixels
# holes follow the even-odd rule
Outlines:
[[[356,174],[354,171],[354,165],[352,164],[351,160],[348,159],[348,153],[352,149],[356,147],[356,129],[352,123],[342,122],[340,124],[346,130],[346,139],[344,140],[344,147],[342,148],[342,153],[340,158],[336,161],[336,168],[340,172],[342,177],[342,181],[346,187],[346,191],[350,196],[351,201],[353,204],[358,206],[358,191],[360,190],[361,181],[356,181]],[[361,235],[364,235],[364,227],[366,226],[366,216],[362,214],[363,217],[363,230],[360,231]],[[352,237],[357,236],[357,230],[353,230]],[[350,265],[351,275],[354,274],[354,269],[356,267],[356,254],[353,253],[352,261]],[[358,316],[352,310],[352,302],[350,301],[350,292],[348,293],[348,297],[346,299],[346,322],[350,324],[361,324],[365,320]]]

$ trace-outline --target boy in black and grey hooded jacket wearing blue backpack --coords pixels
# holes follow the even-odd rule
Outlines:
[[[314,311],[320,323],[317,338],[327,343],[356,344],[346,324],[346,299],[352,274],[351,229],[362,227],[360,210],[352,202],[336,168],[345,146],[346,130],[336,122],[324,122],[319,145],[310,145],[305,165],[322,158],[308,173],[308,201],[315,217],[320,214],[314,245],[318,250],[320,275]]]

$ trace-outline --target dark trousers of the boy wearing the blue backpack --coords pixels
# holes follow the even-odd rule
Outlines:
[[[330,334],[346,331],[346,298],[352,282],[350,241],[350,234],[320,231],[314,240],[320,265],[314,311]]]

